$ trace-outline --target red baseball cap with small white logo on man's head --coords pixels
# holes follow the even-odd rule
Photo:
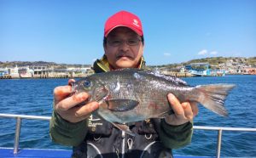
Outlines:
[[[113,31],[114,28],[119,26],[125,26],[131,30],[137,32],[139,36],[143,36],[143,25],[142,21],[135,14],[130,12],[120,11],[116,14],[113,14],[108,18],[104,28],[104,37],[108,37],[110,31]]]

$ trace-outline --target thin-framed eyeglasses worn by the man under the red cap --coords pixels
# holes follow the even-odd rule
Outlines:
[[[130,38],[128,40],[122,40],[122,39],[110,39],[107,41],[109,46],[112,47],[119,47],[122,45],[124,42],[129,45],[129,46],[137,46],[142,40],[138,38]]]

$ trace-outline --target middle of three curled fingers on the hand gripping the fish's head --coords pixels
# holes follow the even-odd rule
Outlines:
[[[69,110],[73,108],[75,105],[85,101],[89,98],[88,93],[78,93],[74,94],[71,97],[68,97],[67,99],[61,100],[58,104],[55,105],[56,110]]]

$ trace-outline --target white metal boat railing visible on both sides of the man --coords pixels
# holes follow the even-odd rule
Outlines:
[[[18,150],[19,150],[21,119],[49,121],[50,118],[51,118],[51,116],[27,116],[27,115],[2,114],[2,113],[0,113],[0,117],[15,118],[16,119],[14,154],[17,154]],[[216,147],[216,157],[218,157],[218,158],[220,157],[221,140],[222,140],[222,132],[223,131],[256,132],[256,128],[247,128],[247,127],[203,127],[203,126],[194,126],[193,129],[218,131],[218,142],[217,142],[217,147]]]

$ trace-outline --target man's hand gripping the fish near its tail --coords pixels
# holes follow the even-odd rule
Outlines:
[[[177,126],[193,121],[193,118],[198,114],[198,107],[195,102],[180,103],[172,93],[167,95],[167,99],[174,111],[174,115],[166,116],[166,123],[170,125]]]

